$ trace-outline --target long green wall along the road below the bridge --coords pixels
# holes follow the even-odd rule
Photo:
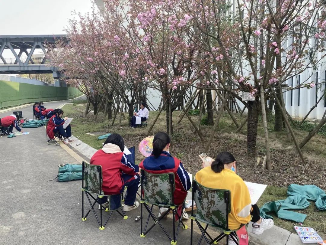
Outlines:
[[[76,88],[61,88],[0,81],[0,108],[18,106],[35,101],[67,100],[82,93]]]

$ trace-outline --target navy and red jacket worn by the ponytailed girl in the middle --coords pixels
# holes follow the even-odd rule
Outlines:
[[[168,152],[163,151],[157,158],[154,155],[146,157],[139,164],[139,167],[149,173],[174,173],[174,204],[180,205],[185,201],[187,190],[191,187],[191,182],[188,173],[178,158],[172,157]]]

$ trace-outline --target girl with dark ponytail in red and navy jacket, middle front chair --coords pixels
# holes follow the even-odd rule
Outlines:
[[[182,162],[172,157],[169,153],[170,137],[167,133],[159,132],[153,139],[153,152],[152,155],[146,157],[139,165],[141,169],[149,173],[174,173],[175,190],[173,193],[173,200],[176,205],[180,205],[182,209],[187,190],[191,187],[190,177],[185,171]],[[168,208],[160,208],[158,217],[166,213]],[[165,215],[165,214],[164,214]],[[187,213],[184,211],[182,214],[184,219],[188,219]]]

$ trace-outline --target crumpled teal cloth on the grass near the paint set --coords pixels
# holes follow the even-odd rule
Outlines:
[[[291,184],[289,185],[287,195],[289,197],[284,200],[265,203],[260,208],[260,216],[264,219],[273,219],[272,216],[266,214],[273,211],[278,218],[302,223],[307,215],[289,210],[307,208],[310,205],[308,200],[316,201],[316,206],[319,210],[326,210],[325,191],[317,186]]]

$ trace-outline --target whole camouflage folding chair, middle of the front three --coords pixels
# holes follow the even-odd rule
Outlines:
[[[165,235],[170,239],[171,244],[177,244],[178,233],[180,229],[180,225],[182,224],[183,229],[187,229],[182,220],[181,216],[177,213],[178,205],[174,204],[173,201],[173,193],[175,190],[175,180],[174,180],[174,173],[161,173],[161,174],[154,174],[146,172],[145,170],[141,169],[141,237],[145,237],[146,234],[156,225],[158,224]],[[151,207],[149,207],[151,204]],[[153,213],[153,206],[158,207],[166,207],[168,210],[161,214],[160,218],[156,218]],[[143,206],[148,211],[148,217],[143,228]],[[160,220],[172,211],[173,215],[173,239],[170,237],[168,232],[164,229],[163,225],[160,223]],[[183,208],[181,213],[183,212]],[[178,217],[179,221],[175,221],[175,217]],[[147,228],[148,222],[150,217],[152,217],[154,224]],[[177,228],[175,227],[175,222],[178,222]]]

